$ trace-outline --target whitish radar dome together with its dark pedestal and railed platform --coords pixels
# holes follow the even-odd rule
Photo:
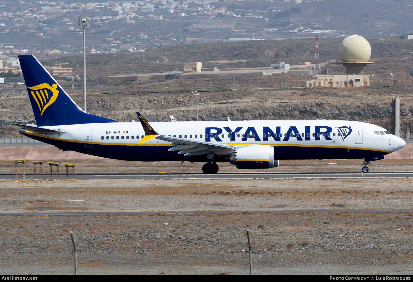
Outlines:
[[[346,66],[348,74],[364,74],[364,66],[374,61],[370,59],[370,43],[360,35],[351,35],[340,45],[340,59],[337,63]]]

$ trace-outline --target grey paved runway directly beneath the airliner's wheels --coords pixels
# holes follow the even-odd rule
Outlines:
[[[31,179],[33,174],[26,174],[26,179]],[[38,178],[39,176],[36,176]],[[69,176],[70,178],[71,176]],[[413,172],[238,172],[238,173],[127,173],[127,174],[75,174],[76,179],[231,179],[231,178],[342,178],[342,177],[413,177]],[[43,174],[44,179],[50,175]],[[53,176],[55,179],[56,176]],[[0,174],[0,179],[16,179],[15,174]],[[60,174],[60,179],[66,179],[66,174]]]

